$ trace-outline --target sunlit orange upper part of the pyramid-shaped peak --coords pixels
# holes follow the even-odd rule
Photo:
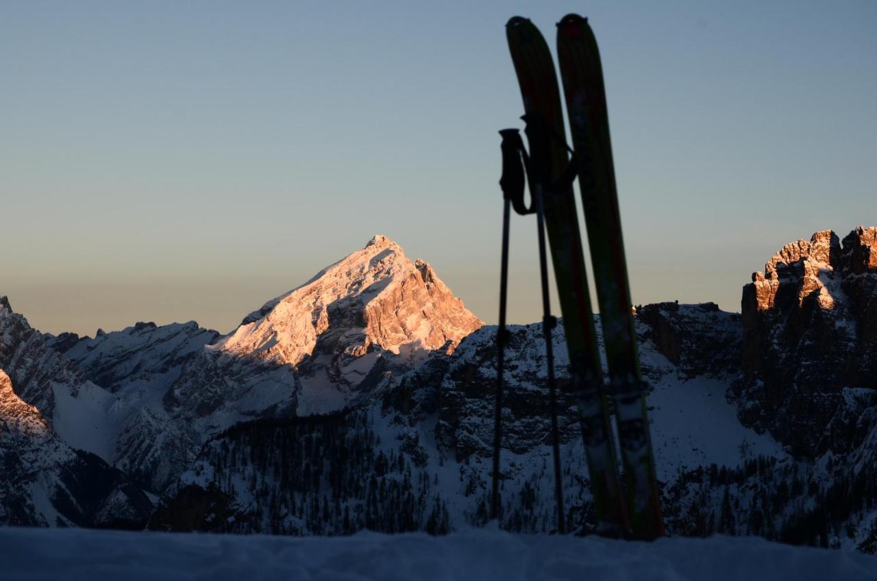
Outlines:
[[[251,313],[212,349],[294,366],[322,352],[441,348],[483,323],[426,262],[376,235],[361,250]]]

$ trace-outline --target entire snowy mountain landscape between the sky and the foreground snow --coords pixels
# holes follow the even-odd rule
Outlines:
[[[741,306],[635,307],[669,533],[877,552],[877,228],[788,244]],[[562,324],[567,523],[587,534]],[[495,338],[384,236],[229,334],[188,322],[54,336],[0,298],[0,525],[481,526]],[[501,526],[551,531],[541,324],[510,328],[506,369]]]

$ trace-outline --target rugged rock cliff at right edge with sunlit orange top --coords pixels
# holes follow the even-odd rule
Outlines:
[[[846,388],[877,388],[877,228],[783,247],[743,290],[745,420],[797,454],[830,448]]]

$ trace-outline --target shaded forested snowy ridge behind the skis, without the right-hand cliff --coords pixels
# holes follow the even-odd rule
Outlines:
[[[712,304],[665,303],[638,307],[636,320],[671,532],[763,534],[877,550],[877,392],[845,391],[844,414],[830,425],[858,425],[849,448],[795,458],[785,442],[741,424],[739,399],[728,399],[731,387],[743,381],[740,315]],[[562,324],[553,341],[564,410],[567,522],[587,532],[593,507],[574,406],[563,393]],[[451,357],[430,358],[383,384],[379,401],[363,402],[346,418],[256,422],[217,436],[162,499],[150,527],[341,534],[363,527],[441,532],[483,524],[495,335],[496,327],[482,327]],[[787,348],[802,356],[796,344]],[[554,527],[553,476],[540,326],[512,326],[506,357],[503,527],[546,532]],[[284,452],[296,441],[303,447]],[[354,446],[355,462],[340,462]],[[406,506],[407,520],[398,520],[398,506]]]

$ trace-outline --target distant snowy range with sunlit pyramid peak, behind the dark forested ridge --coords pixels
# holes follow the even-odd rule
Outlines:
[[[57,433],[160,493],[213,434],[342,409],[481,325],[429,264],[375,236],[225,336],[195,322],[138,323],[93,339],[23,333],[4,321],[0,330],[15,331],[4,345],[30,354],[28,369],[60,365],[82,384],[28,392]]]

